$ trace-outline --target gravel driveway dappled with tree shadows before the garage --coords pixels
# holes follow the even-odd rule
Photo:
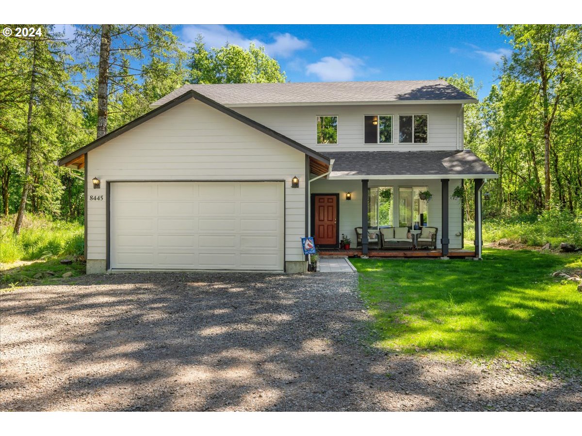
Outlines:
[[[356,281],[113,274],[6,292],[1,409],[582,409],[579,379],[365,346]]]

